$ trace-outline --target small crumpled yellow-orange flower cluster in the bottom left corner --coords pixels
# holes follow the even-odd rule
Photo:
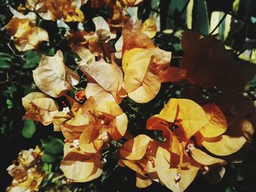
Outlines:
[[[41,157],[42,151],[38,146],[35,149],[22,150],[17,160],[7,168],[13,177],[12,185],[7,191],[38,191],[44,178]]]

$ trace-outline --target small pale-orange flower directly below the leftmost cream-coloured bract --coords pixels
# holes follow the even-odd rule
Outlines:
[[[44,126],[53,122],[53,116],[59,111],[58,104],[44,93],[29,93],[22,99],[23,107],[26,110],[24,119],[39,121]]]

